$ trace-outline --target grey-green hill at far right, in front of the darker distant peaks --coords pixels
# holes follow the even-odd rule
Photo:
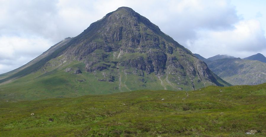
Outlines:
[[[232,85],[257,85],[266,82],[266,63],[240,58],[220,59],[208,67]]]

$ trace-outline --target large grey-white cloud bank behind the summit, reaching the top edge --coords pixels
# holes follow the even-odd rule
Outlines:
[[[0,14],[1,34],[34,34],[53,42],[75,37],[120,6],[129,6],[146,16],[181,44],[194,37],[198,28],[226,29],[238,21],[227,0],[10,0],[0,5],[4,13]]]

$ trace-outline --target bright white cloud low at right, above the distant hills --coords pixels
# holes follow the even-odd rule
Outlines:
[[[199,31],[197,39],[189,39],[187,45],[205,57],[228,54],[244,58],[266,49],[264,31],[257,20],[241,21],[234,27],[226,31]]]

